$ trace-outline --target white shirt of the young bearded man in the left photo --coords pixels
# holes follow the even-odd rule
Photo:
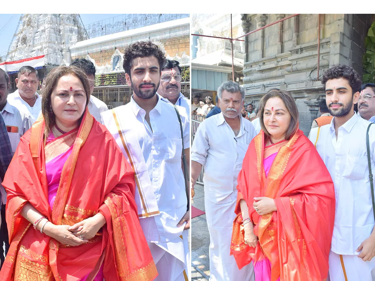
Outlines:
[[[181,168],[182,140],[180,123],[171,103],[165,102],[157,94],[156,106],[150,111],[150,124],[145,120],[146,112],[133,100],[131,108],[139,121],[145,126],[147,135],[139,135],[138,140],[160,215],[139,220],[148,242],[169,242],[177,239],[183,226],[177,223],[186,213],[187,198],[185,181]],[[184,148],[190,147],[190,123],[186,110],[177,106],[183,128]]]

